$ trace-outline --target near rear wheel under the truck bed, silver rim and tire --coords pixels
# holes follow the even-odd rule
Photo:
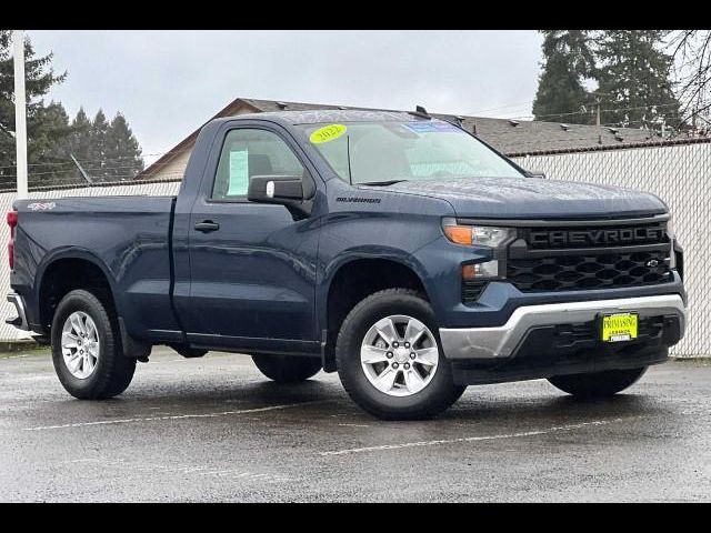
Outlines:
[[[52,362],[62,386],[81,400],[121,394],[136,360],[126,358],[110,305],[86,290],[69,292],[52,320]]]

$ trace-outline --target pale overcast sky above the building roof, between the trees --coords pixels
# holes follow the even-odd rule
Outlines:
[[[431,112],[531,112],[541,37],[527,31],[28,31],[80,105],[121,111],[143,153],[169,150],[238,97]],[[156,158],[148,155],[147,161]]]

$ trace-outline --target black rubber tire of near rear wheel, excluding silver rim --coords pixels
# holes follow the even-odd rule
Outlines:
[[[100,341],[99,358],[93,372],[86,379],[72,375],[62,356],[62,326],[72,313],[87,313],[97,328]],[[86,290],[69,292],[57,306],[52,320],[52,362],[62,386],[80,400],[104,400],[121,394],[131,383],[136,360],[121,350],[118,320],[111,305]]]

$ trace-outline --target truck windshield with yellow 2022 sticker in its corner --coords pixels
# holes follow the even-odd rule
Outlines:
[[[338,175],[353,184],[523,178],[501,155],[448,122],[344,122],[300,128]]]

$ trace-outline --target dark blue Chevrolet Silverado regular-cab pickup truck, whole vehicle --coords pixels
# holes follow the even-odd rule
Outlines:
[[[370,413],[427,418],[479,383],[614,394],[685,328],[661,200],[533,177],[422,111],[219,119],[177,198],[13,210],[9,322],[80,399],[167,344],[278,382],[338,371]]]

